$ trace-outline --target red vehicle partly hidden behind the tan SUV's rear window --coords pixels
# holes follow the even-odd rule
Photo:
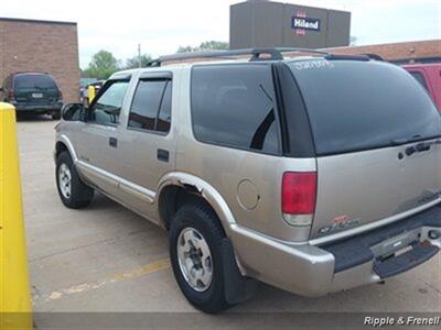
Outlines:
[[[441,112],[441,57],[402,58],[392,63],[409,72],[426,88]]]

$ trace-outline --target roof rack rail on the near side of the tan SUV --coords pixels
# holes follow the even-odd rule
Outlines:
[[[252,55],[250,61],[279,61],[283,59],[282,55],[283,53],[311,53],[320,55],[330,55],[330,53],[327,52],[310,50],[310,48],[246,48],[246,50],[234,50],[234,51],[180,53],[173,55],[165,55],[151,61],[147,66],[161,66],[163,62],[196,59],[196,58],[236,59],[237,56],[241,55]]]

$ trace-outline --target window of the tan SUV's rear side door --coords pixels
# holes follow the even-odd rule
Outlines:
[[[129,128],[166,133],[170,131],[172,81],[141,79],[129,113]]]

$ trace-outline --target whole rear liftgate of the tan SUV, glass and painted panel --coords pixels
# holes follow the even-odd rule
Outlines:
[[[398,220],[440,201],[441,145],[433,143],[441,118],[420,84],[380,62],[289,65],[315,143],[311,238]]]

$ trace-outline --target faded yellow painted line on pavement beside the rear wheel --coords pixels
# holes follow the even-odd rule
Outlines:
[[[76,294],[95,290],[95,289],[106,286],[108,284],[138,278],[141,276],[157,273],[157,272],[168,270],[168,268],[170,268],[170,260],[163,258],[163,260],[152,262],[150,264],[147,264],[147,265],[136,268],[136,270],[112,274],[108,277],[103,278],[101,280],[82,283],[78,285],[71,286],[68,288],[60,289],[60,290],[51,293],[47,297],[45,297],[45,298],[43,297],[43,298],[45,299],[45,301],[56,300],[56,299],[63,298],[65,296],[72,296],[72,295],[76,295]]]

